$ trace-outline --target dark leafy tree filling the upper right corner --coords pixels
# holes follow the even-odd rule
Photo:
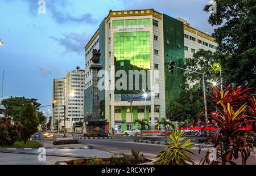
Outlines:
[[[217,13],[208,22],[218,26],[213,37],[221,59],[222,71],[228,83],[256,87],[256,2],[255,0],[216,1]],[[204,11],[209,12],[206,5]]]

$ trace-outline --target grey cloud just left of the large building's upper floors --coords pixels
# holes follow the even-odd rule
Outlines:
[[[63,38],[50,38],[64,46],[66,52],[73,51],[77,54],[82,54],[84,52],[86,43],[90,39],[90,36],[86,35],[86,33],[69,33],[63,35]]]

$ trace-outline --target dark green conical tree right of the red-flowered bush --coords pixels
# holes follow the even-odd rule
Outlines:
[[[27,139],[38,131],[38,118],[36,118],[35,108],[31,104],[27,104],[19,114],[20,136],[26,144]]]

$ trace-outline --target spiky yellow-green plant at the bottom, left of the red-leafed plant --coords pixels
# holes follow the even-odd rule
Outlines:
[[[191,143],[191,140],[185,140],[185,143],[182,141],[185,137],[184,131],[172,129],[171,135],[168,136],[168,139],[171,143],[165,143],[166,149],[160,151],[156,158],[159,158],[155,164],[159,165],[186,165],[186,164],[195,164],[195,160],[191,158],[191,154],[194,154],[189,150],[193,147],[194,143]]]

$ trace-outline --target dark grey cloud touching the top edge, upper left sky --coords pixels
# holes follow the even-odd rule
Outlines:
[[[13,0],[17,1],[17,0]],[[22,0],[23,2],[27,3],[31,14],[38,15],[38,1],[37,0]],[[68,12],[64,12],[64,8],[68,6],[72,6],[73,2],[70,1],[46,1],[46,13],[50,12],[52,18],[60,24],[63,23],[88,23],[93,24],[96,23],[97,20],[93,19],[92,14],[85,13],[79,16],[72,16]]]

